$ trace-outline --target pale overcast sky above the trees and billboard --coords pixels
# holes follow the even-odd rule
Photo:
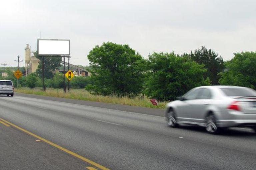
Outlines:
[[[70,39],[72,64],[102,42],[153,51],[190,52],[201,45],[224,60],[256,51],[255,0],[6,0],[0,5],[0,62],[24,61],[24,47],[43,39]],[[24,62],[21,64],[24,66]]]

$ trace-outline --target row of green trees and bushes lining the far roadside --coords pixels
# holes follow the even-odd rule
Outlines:
[[[74,77],[70,83],[71,87],[85,87],[96,95],[134,97],[142,94],[164,101],[204,85],[256,88],[255,52],[234,53],[230,61],[223,61],[218,53],[201,46],[184,54],[153,52],[145,59],[127,44],[106,42],[96,45],[87,57],[91,76]],[[63,87],[63,75],[54,73],[61,66],[60,60],[46,57],[46,87]],[[41,86],[41,62],[40,59],[36,73],[21,78],[21,86]]]

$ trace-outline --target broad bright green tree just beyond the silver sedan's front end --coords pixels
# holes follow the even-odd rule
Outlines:
[[[154,52],[149,55],[147,65],[144,93],[160,101],[174,100],[196,86],[210,85],[209,78],[203,78],[207,71],[203,64],[188,61],[174,52]]]

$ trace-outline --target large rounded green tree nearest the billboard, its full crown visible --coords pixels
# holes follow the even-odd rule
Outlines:
[[[86,90],[90,93],[133,96],[141,92],[145,60],[129,45],[103,43],[95,46],[87,57],[92,75]]]

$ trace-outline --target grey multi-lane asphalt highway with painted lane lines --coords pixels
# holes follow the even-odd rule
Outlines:
[[[2,164],[2,169],[8,169],[8,164],[15,164],[15,169],[29,169],[26,162],[38,164],[38,169],[54,169],[51,163],[53,167],[62,166],[60,169],[86,169],[91,165],[47,142],[41,141],[43,146],[28,144],[35,137],[17,126],[112,170],[256,169],[253,130],[232,128],[211,135],[198,127],[169,128],[164,110],[145,110],[35,95],[0,96],[0,118],[13,124],[6,127],[0,123],[0,167]],[[10,146],[7,138],[21,140]],[[17,145],[26,147],[16,150]],[[33,160],[32,151],[44,156]],[[19,159],[19,154],[26,159]]]

